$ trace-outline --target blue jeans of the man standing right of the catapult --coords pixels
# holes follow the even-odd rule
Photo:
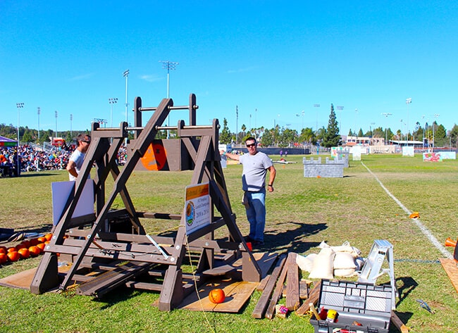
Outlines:
[[[264,241],[264,227],[266,226],[266,189],[259,192],[245,192],[249,207],[247,219],[249,222],[249,238],[254,241]]]

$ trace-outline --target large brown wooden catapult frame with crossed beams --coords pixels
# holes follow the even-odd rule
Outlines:
[[[236,276],[243,281],[259,282],[261,270],[252,253],[247,250],[240,230],[235,223],[235,214],[224,180],[221,158],[218,151],[217,119],[212,125],[196,125],[196,97],[190,94],[189,106],[173,106],[172,99],[163,99],[157,107],[142,107],[142,99],[135,99],[135,127],[121,122],[119,128],[100,128],[92,124],[92,142],[85,156],[80,175],[75,181],[73,196],[67,201],[54,235],[46,246],[30,290],[41,294],[50,289],[66,290],[77,284],[77,292],[91,296],[102,296],[106,292],[127,285],[136,289],[160,291],[159,309],[172,310],[194,290],[194,284],[204,283],[212,272],[230,272],[237,260],[242,270]],[[189,125],[183,120],[176,127],[163,127],[163,122],[172,110],[189,110]],[[147,124],[142,127],[142,112],[154,111]],[[126,183],[140,158],[149,149],[161,130],[176,130],[185,154],[190,158],[192,179],[190,185],[209,183],[211,222],[199,230],[186,234],[185,212],[182,215],[147,213],[135,211]],[[123,168],[118,168],[116,156],[128,131],[135,139],[128,145],[130,157]],[[169,140],[163,140],[169,141]],[[167,157],[174,151],[167,151]],[[178,153],[181,160],[182,153]],[[181,163],[181,161],[180,161]],[[95,165],[94,203],[95,213],[72,218],[82,195],[92,165]],[[106,180],[113,177],[113,189],[106,198]],[[161,184],[156,184],[160,187]],[[183,189],[183,193],[184,193]],[[113,209],[113,201],[120,196],[124,208]],[[184,203],[184,201],[183,201]],[[184,205],[183,205],[184,206]],[[216,210],[215,210],[216,208]],[[221,216],[215,216],[218,211]],[[116,232],[109,227],[109,220],[124,217],[132,232]],[[146,234],[140,218],[180,220],[173,237]],[[228,238],[214,238],[220,227],[228,228]],[[124,231],[124,230],[123,230]],[[70,237],[67,237],[67,236]],[[194,272],[182,272],[187,249],[199,253],[199,262]],[[72,264],[64,275],[58,272],[58,253],[69,258]],[[93,274],[87,274],[92,272]],[[95,273],[99,272],[99,275]],[[143,282],[140,277],[147,277]],[[158,279],[162,283],[158,283]]]

